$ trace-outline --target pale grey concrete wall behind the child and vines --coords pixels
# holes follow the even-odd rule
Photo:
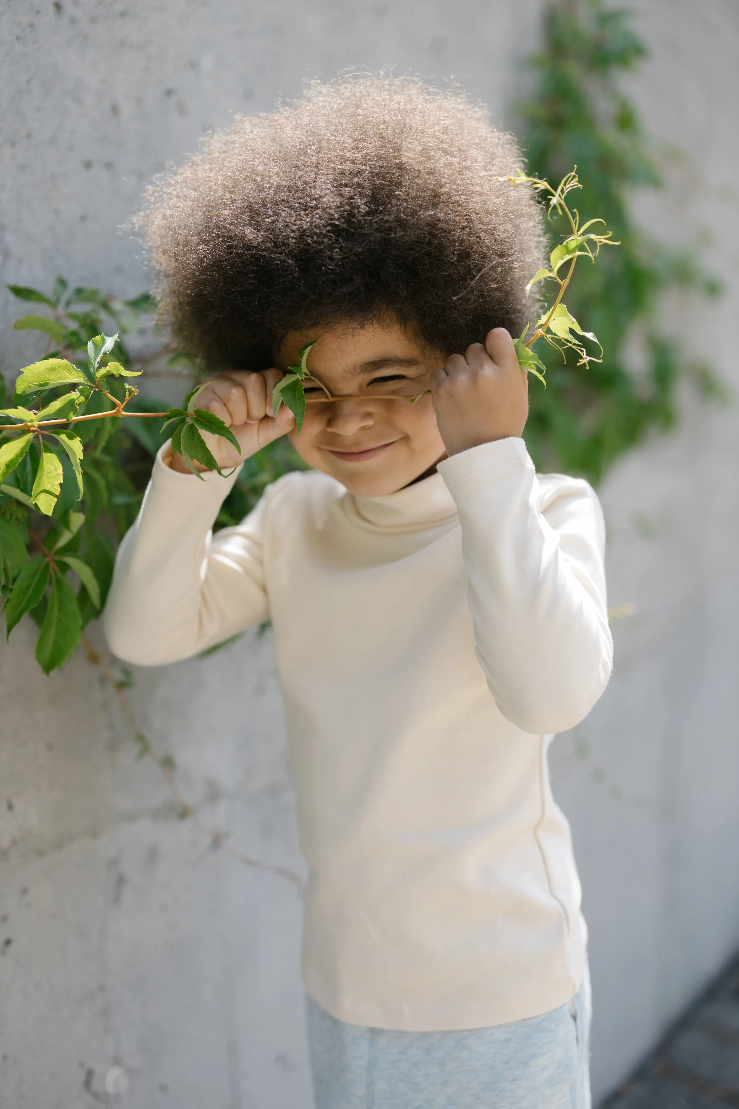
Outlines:
[[[645,206],[702,236],[729,289],[667,307],[688,349],[730,335],[739,19],[731,0],[638,0],[653,60],[634,81],[671,192]],[[0,14],[3,281],[146,286],[119,232],[143,184],[232,112],[302,77],[396,65],[456,77],[503,119],[538,0],[309,6],[286,0],[10,0]],[[2,319],[16,305],[0,298]],[[2,334],[7,375],[33,339]],[[555,744],[591,926],[596,1093],[613,1087],[739,946],[735,678],[736,408],[686,396],[681,430],[625,459],[603,498],[616,627],[609,690]],[[93,638],[96,635],[92,632]],[[283,879],[213,852],[176,820],[112,690],[80,654],[44,679],[31,628],[0,644],[0,1103],[309,1109],[300,905]],[[238,690],[238,696],[234,696]],[[140,723],[203,818],[300,867],[268,638],[138,671]]]

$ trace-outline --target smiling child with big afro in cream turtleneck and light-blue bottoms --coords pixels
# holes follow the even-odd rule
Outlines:
[[[273,622],[317,1109],[589,1106],[546,749],[608,681],[604,527],[521,438],[511,335],[543,235],[495,180],[519,162],[456,92],[346,79],[209,139],[144,215],[174,333],[215,375],[199,403],[240,444],[208,440],[220,466],[288,435],[314,467],[212,536],[236,474],[165,446],[105,628],[156,665]],[[311,342],[297,435],[270,394]]]

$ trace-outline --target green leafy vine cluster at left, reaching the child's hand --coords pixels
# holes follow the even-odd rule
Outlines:
[[[21,370],[10,405],[0,408],[0,603],[8,635],[31,614],[37,659],[49,673],[74,652],[105,602],[115,545],[135,519],[168,431],[198,478],[195,462],[220,472],[202,433],[239,448],[220,419],[197,407],[203,386],[191,389],[182,408],[137,394],[131,379],[141,370],[132,368],[123,336],[156,309],[148,294],[123,301],[96,288],[70,293],[62,277],[50,295],[8,287],[52,309],[16,322],[17,330],[47,336],[48,349]],[[109,321],[115,334],[105,334]],[[168,363],[182,360],[175,354]],[[218,525],[243,519],[269,481],[300,465],[279,440],[247,459]]]

